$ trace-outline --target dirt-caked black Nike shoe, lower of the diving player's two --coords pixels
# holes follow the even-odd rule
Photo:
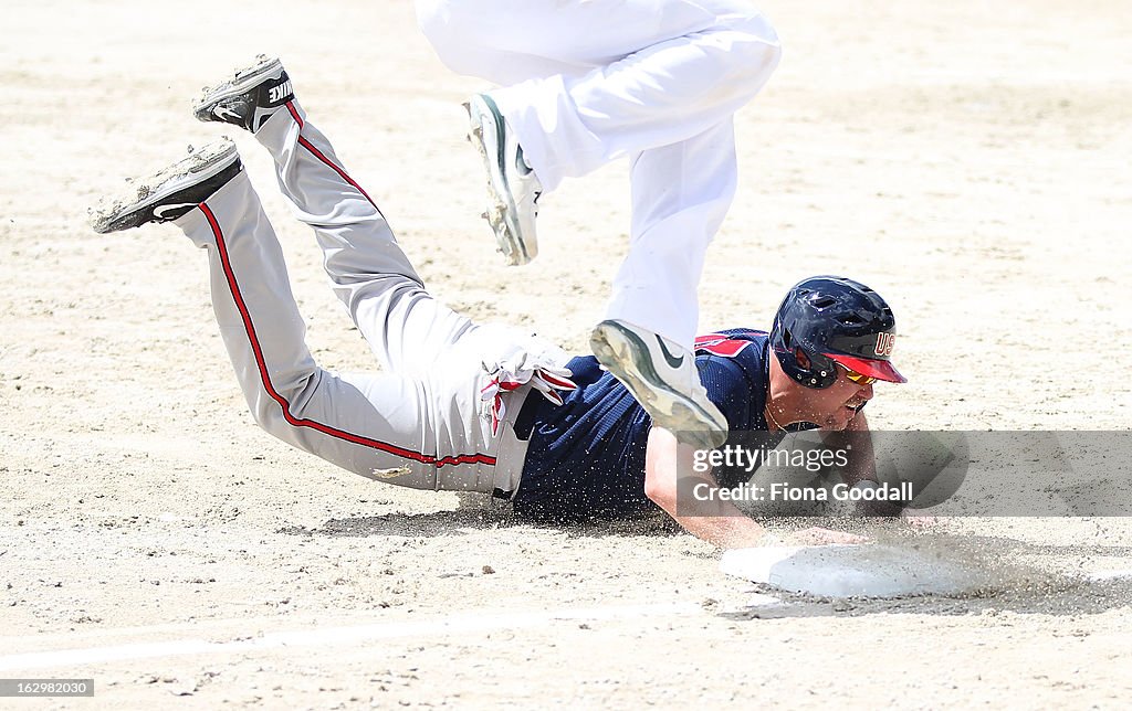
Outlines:
[[[101,234],[168,223],[207,200],[243,170],[235,144],[208,144],[151,177],[132,181],[130,193],[91,210],[91,226]]]

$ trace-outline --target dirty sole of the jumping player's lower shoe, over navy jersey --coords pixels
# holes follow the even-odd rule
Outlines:
[[[590,347],[657,426],[701,449],[714,449],[727,441],[728,432],[720,430],[715,417],[687,394],[663,384],[640,336],[616,322],[602,321],[590,336]]]

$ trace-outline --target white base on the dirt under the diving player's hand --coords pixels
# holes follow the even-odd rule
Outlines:
[[[777,546],[728,550],[720,570],[791,592],[831,598],[954,595],[987,582],[978,571],[884,545]]]

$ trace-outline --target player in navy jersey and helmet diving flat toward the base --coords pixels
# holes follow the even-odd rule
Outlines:
[[[541,520],[634,515],[659,505],[719,545],[762,540],[763,529],[726,502],[692,510],[684,502],[677,511],[677,471],[692,448],[595,358],[567,359],[550,344],[472,323],[437,303],[380,210],[307,118],[278,60],[206,90],[196,115],[248,129],[272,155],[283,194],[323,249],[335,293],[387,371],[318,367],[239,154],[230,141],[213,144],[136,183],[135,196],[95,211],[93,225],[106,233],[172,222],[207,252],[221,335],[264,430],[362,476],[490,493]],[[702,337],[695,367],[729,431],[865,430],[873,383],[903,381],[890,363],[894,333],[892,312],[875,292],[817,277],[791,291],[770,333]]]

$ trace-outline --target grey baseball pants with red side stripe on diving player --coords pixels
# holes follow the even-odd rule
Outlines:
[[[305,343],[275,232],[241,171],[177,224],[208,252],[213,309],[256,422],[280,440],[362,476],[414,488],[514,491],[525,443],[480,418],[484,363],[522,341],[477,326],[424,291],[381,213],[297,102],[256,133],[283,194],[315,231],[324,265],[389,372],[336,374]]]

